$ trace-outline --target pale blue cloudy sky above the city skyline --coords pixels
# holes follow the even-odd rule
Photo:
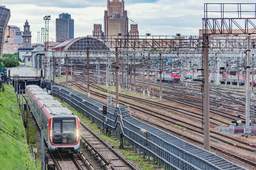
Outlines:
[[[202,28],[204,3],[212,3],[212,0],[125,0],[125,10],[139,25],[140,35],[147,31],[152,35],[198,35]],[[241,0],[215,0],[214,3],[241,3]],[[246,0],[242,3],[255,2]],[[23,30],[28,20],[32,43],[36,43],[37,32],[45,25],[45,15],[51,15],[49,41],[55,41],[58,14],[71,14],[75,37],[83,37],[92,34],[93,23],[101,23],[103,29],[104,10],[107,10],[107,0],[0,0],[0,5],[11,10],[9,25]],[[131,23],[129,21],[129,25]]]

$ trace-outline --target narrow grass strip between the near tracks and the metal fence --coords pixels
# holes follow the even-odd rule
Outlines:
[[[58,100],[59,102],[61,102],[61,100],[58,99],[57,97],[54,97],[54,98],[56,100]],[[119,143],[117,143],[115,140],[111,139],[111,137],[105,136],[103,133],[101,133],[100,129],[96,125],[91,124],[89,119],[85,119],[84,116],[81,115],[81,113],[79,113],[78,111],[76,111],[75,109],[73,109],[72,107],[67,105],[65,102],[61,102],[61,104],[64,105],[66,108],[68,108],[73,113],[75,113],[76,116],[78,116],[80,120],[82,120],[84,123],[86,123],[90,127],[90,129],[92,129],[94,132],[99,133],[99,136],[102,139],[105,139],[106,141],[111,142],[114,147],[119,146]],[[135,153],[132,153],[131,151],[122,150],[122,154],[126,157],[126,159],[134,161],[139,166],[141,166],[140,170],[156,170],[157,169],[156,167],[152,166],[151,162],[143,161],[143,159],[141,159],[141,156],[139,156]]]

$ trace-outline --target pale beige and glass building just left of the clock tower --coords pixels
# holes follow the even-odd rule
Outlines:
[[[17,26],[7,26],[5,30],[3,54],[14,54],[22,47],[22,31]]]

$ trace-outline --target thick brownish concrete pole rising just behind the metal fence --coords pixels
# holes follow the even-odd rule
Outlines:
[[[208,35],[204,35],[203,39],[204,39],[204,149],[210,151]]]

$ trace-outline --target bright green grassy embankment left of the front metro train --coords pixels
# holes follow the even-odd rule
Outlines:
[[[30,157],[30,150],[24,139],[23,122],[14,89],[11,85],[4,86],[5,91],[0,92],[0,104],[4,107],[0,106],[0,170],[35,170],[35,161]]]

